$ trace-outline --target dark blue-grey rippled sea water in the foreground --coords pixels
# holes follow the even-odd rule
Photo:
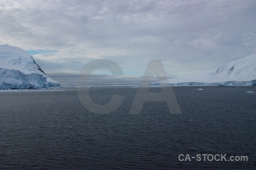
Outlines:
[[[172,89],[182,114],[165,102],[129,114],[137,92],[129,87],[90,90],[98,104],[125,97],[109,114],[86,110],[76,90],[1,93],[0,169],[256,169],[256,93],[246,92],[255,87]],[[180,154],[249,161],[180,162]]]

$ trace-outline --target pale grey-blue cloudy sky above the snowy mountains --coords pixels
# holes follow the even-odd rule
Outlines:
[[[255,0],[0,0],[0,44],[26,50],[49,74],[110,59],[138,76],[158,59],[184,76],[256,53],[255,21]]]

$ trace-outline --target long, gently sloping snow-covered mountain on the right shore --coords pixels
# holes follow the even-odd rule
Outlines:
[[[200,74],[170,79],[172,85],[256,85],[256,53]]]

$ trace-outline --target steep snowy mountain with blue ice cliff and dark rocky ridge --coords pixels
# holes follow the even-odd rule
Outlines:
[[[60,86],[24,50],[0,45],[0,89]]]

